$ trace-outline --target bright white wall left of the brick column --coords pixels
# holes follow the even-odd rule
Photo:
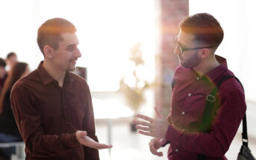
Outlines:
[[[135,42],[142,44],[149,78],[154,78],[154,0],[0,1],[0,57],[15,51],[20,61],[37,68],[43,60],[37,28],[54,17],[68,19],[78,29],[78,65],[88,68],[92,91],[119,89]]]

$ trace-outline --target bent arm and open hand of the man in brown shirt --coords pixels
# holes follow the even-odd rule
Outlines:
[[[63,156],[74,147],[81,144],[102,149],[105,144],[99,144],[91,138],[81,135],[81,131],[60,135],[46,135],[41,126],[41,116],[35,107],[35,100],[22,86],[14,87],[10,102],[17,127],[25,141],[31,156]],[[79,140],[78,140],[79,139]],[[107,148],[107,146],[105,146]]]

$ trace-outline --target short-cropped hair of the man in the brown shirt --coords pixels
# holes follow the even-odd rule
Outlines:
[[[60,34],[75,32],[75,25],[73,25],[66,19],[49,19],[46,22],[44,22],[43,25],[40,26],[40,28],[38,28],[37,44],[42,53],[45,45],[49,45],[52,48],[57,49],[59,47],[58,43],[63,40]]]

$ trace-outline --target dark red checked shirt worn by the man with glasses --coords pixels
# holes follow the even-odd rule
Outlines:
[[[195,122],[202,121],[206,97],[224,75],[231,74],[226,60],[216,56],[220,65],[202,77],[191,68],[178,66],[172,80],[172,104],[168,116],[169,160],[197,160],[198,154],[207,160],[222,160],[236,135],[246,112],[245,95],[240,83],[229,78],[219,87],[221,103],[209,132],[185,132]]]

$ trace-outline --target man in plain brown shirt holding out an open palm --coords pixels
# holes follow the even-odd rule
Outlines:
[[[70,71],[81,57],[75,26],[49,19],[38,29],[44,61],[13,86],[10,100],[26,160],[98,160],[92,98],[86,81]]]

